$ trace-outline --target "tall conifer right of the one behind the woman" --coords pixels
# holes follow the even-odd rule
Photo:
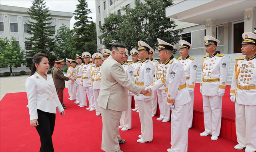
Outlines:
[[[76,5],[74,12],[73,46],[76,48],[77,54],[82,52],[90,52],[93,54],[97,50],[96,42],[96,25],[92,22],[92,18],[88,16],[91,10],[88,9],[86,0],[78,0],[79,4]]]

